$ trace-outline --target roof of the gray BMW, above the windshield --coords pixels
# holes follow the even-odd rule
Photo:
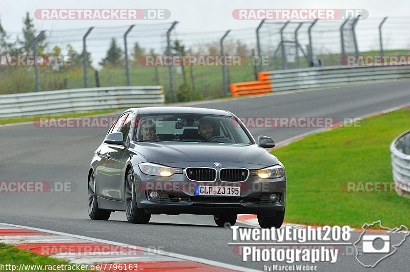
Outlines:
[[[140,114],[166,114],[166,113],[196,113],[196,114],[210,114],[210,115],[222,115],[232,116],[228,111],[206,109],[206,108],[194,108],[194,107],[146,107],[146,108],[132,108],[129,109]],[[128,111],[129,111],[128,110]]]

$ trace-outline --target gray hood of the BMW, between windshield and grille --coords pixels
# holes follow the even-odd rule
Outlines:
[[[150,162],[168,165],[176,162],[230,162],[265,166],[278,163],[275,156],[257,144],[138,142],[134,151]]]

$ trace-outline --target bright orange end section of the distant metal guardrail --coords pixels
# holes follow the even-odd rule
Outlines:
[[[232,83],[230,85],[232,96],[264,94],[273,92],[272,85],[268,80],[268,72],[259,72],[258,79],[258,81]]]

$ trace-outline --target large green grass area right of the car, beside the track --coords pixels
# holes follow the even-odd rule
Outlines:
[[[360,121],[360,128],[337,128],[274,150],[288,181],[285,221],[350,225],[382,220],[409,225],[410,199],[395,192],[344,192],[346,181],[393,181],[389,145],[410,129],[410,109]]]

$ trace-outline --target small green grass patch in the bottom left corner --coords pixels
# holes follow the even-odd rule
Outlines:
[[[40,256],[40,255],[37,255],[37,254],[34,254],[34,253],[30,253],[27,250],[22,250],[22,249],[12,247],[10,245],[6,245],[6,244],[3,244],[3,243],[0,243],[0,264],[15,265],[16,269],[18,269],[20,264],[26,264],[26,265],[69,265],[68,262],[53,259],[53,258],[50,258],[50,257],[47,257],[47,256]],[[45,270],[25,269],[24,271],[45,271]],[[73,269],[53,270],[53,271],[73,271]],[[82,271],[92,271],[92,270],[82,270]]]

